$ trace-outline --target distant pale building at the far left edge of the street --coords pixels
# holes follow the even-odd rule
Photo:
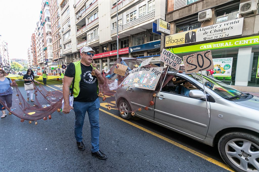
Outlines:
[[[2,39],[0,35],[0,69],[5,71],[11,70],[11,64],[8,52],[8,43]]]

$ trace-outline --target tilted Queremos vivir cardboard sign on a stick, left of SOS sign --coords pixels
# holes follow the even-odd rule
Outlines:
[[[159,60],[168,64],[176,70],[179,70],[182,63],[182,59],[180,57],[171,53],[170,51],[167,51],[166,49],[162,50]]]

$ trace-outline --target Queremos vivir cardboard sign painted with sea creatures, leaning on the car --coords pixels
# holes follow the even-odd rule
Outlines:
[[[163,67],[158,68],[135,68],[124,79],[124,86],[155,90]]]

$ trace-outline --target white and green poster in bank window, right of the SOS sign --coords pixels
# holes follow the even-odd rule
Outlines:
[[[213,59],[214,77],[230,77],[232,71],[233,57]]]

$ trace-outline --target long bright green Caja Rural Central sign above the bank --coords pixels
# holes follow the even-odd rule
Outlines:
[[[250,45],[259,45],[259,35],[218,41],[218,42],[183,46],[183,47],[177,47],[177,48],[169,48],[167,50],[169,50],[174,54],[178,54],[178,53],[189,53],[189,52],[195,52],[195,51],[215,50],[215,49],[222,49],[222,48],[250,46]]]

